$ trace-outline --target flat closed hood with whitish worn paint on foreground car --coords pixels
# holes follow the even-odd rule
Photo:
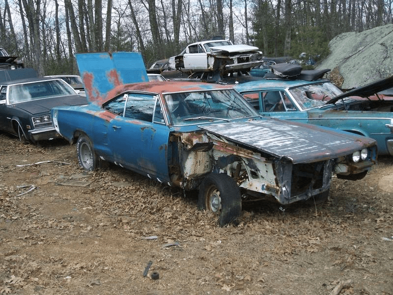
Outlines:
[[[364,148],[364,144],[375,145],[370,138],[277,119],[198,127],[239,145],[287,158],[294,164],[335,159]]]

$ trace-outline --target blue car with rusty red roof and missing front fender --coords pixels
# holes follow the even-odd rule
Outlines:
[[[375,163],[375,141],[346,132],[261,119],[234,89],[148,81],[137,53],[77,54],[89,105],[56,107],[56,130],[76,143],[80,165],[103,161],[184,190],[218,223],[242,200],[323,201],[331,178],[357,179]],[[131,83],[141,81],[140,83]]]

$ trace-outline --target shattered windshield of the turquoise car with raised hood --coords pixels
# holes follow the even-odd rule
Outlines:
[[[324,106],[330,99],[342,93],[330,82],[302,85],[290,88],[289,92],[303,110]]]

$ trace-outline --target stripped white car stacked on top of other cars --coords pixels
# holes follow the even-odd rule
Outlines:
[[[233,45],[228,40],[207,40],[188,45],[178,56],[169,58],[169,65],[179,70],[219,72],[226,76],[248,72],[262,61],[258,47]]]

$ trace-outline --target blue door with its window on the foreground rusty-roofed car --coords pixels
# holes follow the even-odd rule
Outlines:
[[[108,145],[112,160],[161,182],[169,181],[168,137],[169,128],[161,112],[157,95],[126,93],[124,109],[108,125]],[[107,110],[115,100],[105,106]],[[113,108],[112,112],[115,112]],[[111,110],[110,110],[111,111]]]

